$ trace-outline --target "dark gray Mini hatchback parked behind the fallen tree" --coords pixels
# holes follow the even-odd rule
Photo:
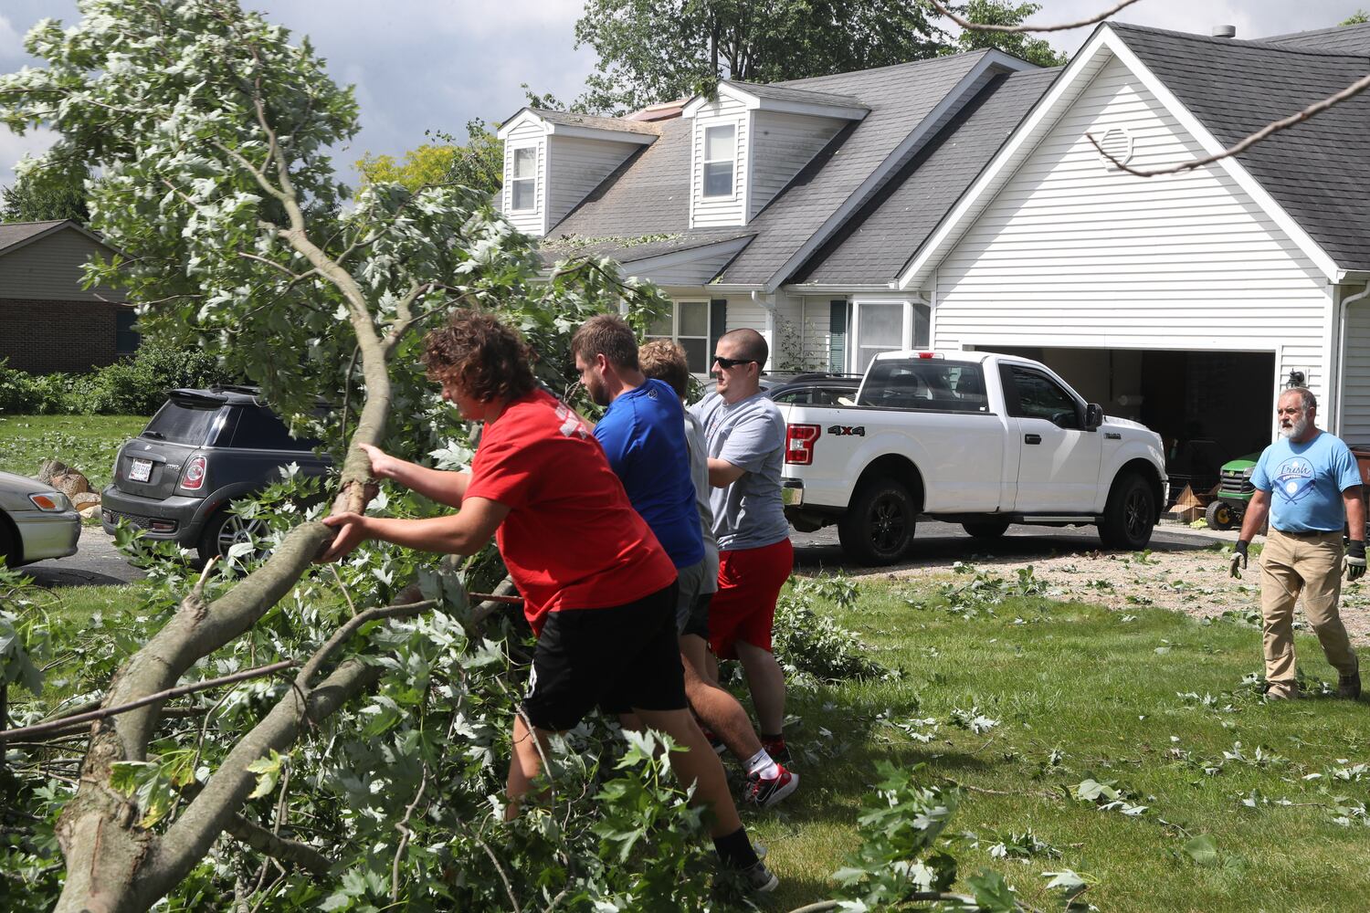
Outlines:
[[[196,549],[201,561],[264,532],[230,502],[279,480],[296,463],[306,475],[333,465],[315,441],[292,438],[253,387],[171,390],[142,434],[119,449],[114,482],[100,493],[105,532],[119,520],[152,539]]]

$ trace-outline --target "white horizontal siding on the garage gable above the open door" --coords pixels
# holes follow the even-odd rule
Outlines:
[[[1321,274],[1221,170],[1138,178],[1085,133],[1126,127],[1134,167],[1201,156],[1110,62],[938,264],[933,345],[1277,352],[1323,393]]]

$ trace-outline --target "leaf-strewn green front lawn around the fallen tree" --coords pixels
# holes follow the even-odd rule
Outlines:
[[[1240,621],[1041,597],[954,612],[940,586],[863,583],[855,608],[822,606],[903,676],[792,693],[801,788],[745,814],[782,879],[764,909],[833,897],[829,876],[862,839],[856,816],[881,760],[922,784],[962,784],[947,832],[980,838],[958,849],[962,875],[995,868],[1037,909],[1059,909],[1041,873],[1063,868],[1096,879],[1085,897],[1110,912],[1370,905],[1370,831],[1345,810],[1370,794],[1370,768],[1356,767],[1370,762],[1370,705],[1265,704],[1243,683],[1259,671],[1260,634]],[[136,589],[52,591],[53,608],[73,620],[108,615],[134,604]],[[1312,638],[1297,649],[1310,689],[1334,682]],[[951,721],[973,708],[997,724],[974,732]],[[1086,777],[1114,782],[1145,810],[1074,798]],[[1034,856],[991,854],[1028,830],[1045,845]],[[1184,851],[1199,835],[1217,847],[1206,865]]]

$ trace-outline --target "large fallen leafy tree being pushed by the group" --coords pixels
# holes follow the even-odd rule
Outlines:
[[[89,649],[84,680],[107,687],[99,702],[133,709],[78,730],[89,732],[78,780],[42,779],[41,765],[32,768],[37,784],[25,780],[22,802],[42,809],[33,821],[47,828],[23,850],[32,871],[52,873],[58,846],[67,864],[60,898],[49,897],[49,875],[30,906],[144,910],[175,892],[178,909],[222,908],[236,894],[273,909],[325,899],[334,910],[489,909],[506,903],[510,884],[499,864],[486,866],[490,845],[510,864],[549,873],[538,890],[560,872],[563,895],[660,902],[684,890],[678,902],[697,906],[688,887],[703,884],[693,812],[656,786],[651,750],[632,762],[651,773],[600,777],[623,797],[604,840],[627,840],[633,865],[599,864],[595,821],[570,803],[564,814],[489,827],[489,797],[500,791],[492,760],[507,753],[497,735],[511,713],[506,690],[518,687],[506,650],[518,638],[510,647],[507,631],[484,639],[463,576],[480,565],[433,568],[388,548],[327,574],[312,565],[333,538],[319,513],[367,509],[375,497],[359,443],[440,464],[469,452],[418,367],[419,333],[456,303],[522,329],[543,355],[540,375],[562,389],[574,376],[569,333],[578,323],[623,298],[645,322],[663,300],[603,261],[544,275],[532,240],[486,194],[456,183],[377,181],[342,207],[348,190],[325,149],[358,130],[352,90],[327,77],[308,40],[234,0],[81,0],[79,10],[71,27],[49,19],[29,33],[27,51],[45,64],[0,77],[0,120],[58,134],[34,174],[79,163],[99,175],[92,226],[119,255],[88,264],[90,278],[126,289],[149,333],[212,352],[260,385],[293,426],[327,442],[338,475],[334,498],[310,511],[296,505],[325,491],[293,476],[242,508],[273,527],[270,557],[245,578],[211,565],[196,582],[184,565],[155,561],[149,597],[118,630],[68,631]],[[319,397],[334,404],[327,419],[315,417]],[[393,496],[388,509],[433,508]],[[138,548],[132,530],[118,541]],[[200,708],[214,725],[179,727],[166,699],[148,701],[182,676],[281,656],[297,657],[286,679]],[[599,757],[596,747],[581,769]],[[399,797],[412,798],[408,812]],[[322,836],[288,836],[296,812]],[[648,819],[671,823],[669,856],[633,847]],[[548,830],[552,820],[567,834]],[[259,853],[281,864],[279,877],[267,882],[277,869],[262,868]],[[558,903],[555,892],[537,906]]]

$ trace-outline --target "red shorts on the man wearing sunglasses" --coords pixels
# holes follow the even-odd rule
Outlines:
[[[789,539],[759,549],[718,553],[718,593],[708,604],[708,645],[721,660],[736,660],[737,641],[770,650],[775,597],[795,569]]]

